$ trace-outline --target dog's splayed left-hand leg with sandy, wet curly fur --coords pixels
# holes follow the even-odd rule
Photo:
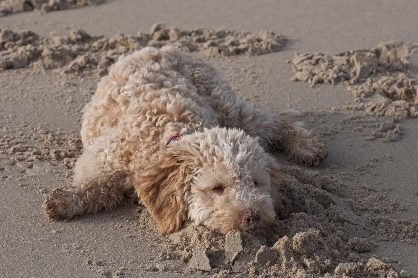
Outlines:
[[[57,187],[46,196],[43,209],[50,219],[112,209],[131,190],[126,174],[114,170],[101,148],[90,146],[77,160],[72,185]]]

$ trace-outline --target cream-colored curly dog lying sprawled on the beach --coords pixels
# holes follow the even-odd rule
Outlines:
[[[135,189],[162,234],[186,219],[221,233],[265,227],[284,201],[266,151],[303,165],[328,154],[296,114],[252,108],[216,69],[174,47],[122,56],[85,108],[73,185],[54,189],[44,210],[51,219],[95,213]]]

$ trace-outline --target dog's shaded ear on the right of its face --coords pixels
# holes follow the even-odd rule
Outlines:
[[[287,215],[286,206],[288,200],[280,193],[280,183],[283,175],[280,171],[280,166],[273,156],[268,155],[268,174],[270,175],[270,186],[271,186],[271,198],[273,199],[274,208],[280,217]]]

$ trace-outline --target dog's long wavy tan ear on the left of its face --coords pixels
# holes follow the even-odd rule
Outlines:
[[[144,166],[136,176],[135,191],[161,234],[177,231],[187,219],[184,193],[190,189],[192,162],[184,153],[162,151],[158,161]]]

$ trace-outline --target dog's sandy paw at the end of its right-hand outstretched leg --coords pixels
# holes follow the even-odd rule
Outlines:
[[[325,139],[313,137],[299,142],[293,160],[308,167],[317,166],[328,157],[329,147]]]

